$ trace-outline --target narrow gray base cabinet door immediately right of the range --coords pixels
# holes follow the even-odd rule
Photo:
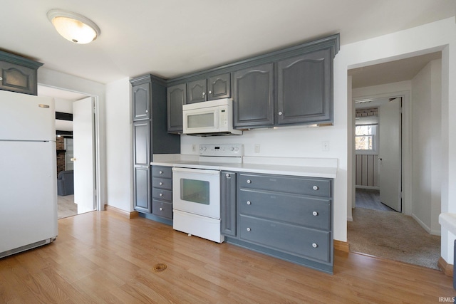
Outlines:
[[[221,172],[220,182],[220,232],[236,236],[236,173]]]

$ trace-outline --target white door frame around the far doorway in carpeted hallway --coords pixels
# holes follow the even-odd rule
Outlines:
[[[353,89],[351,89],[353,90]],[[396,98],[396,97],[402,97],[403,102],[402,102],[402,122],[401,122],[401,127],[402,127],[402,138],[401,138],[401,145],[402,145],[402,151],[401,151],[401,171],[402,171],[402,177],[401,177],[401,182],[402,182],[402,213],[406,215],[412,215],[412,108],[411,108],[411,91],[410,90],[403,90],[403,91],[396,91],[396,92],[389,92],[389,93],[379,93],[376,95],[357,95],[353,96],[352,95],[352,103],[351,103],[351,110],[354,113],[355,112],[355,100],[357,99],[380,99],[380,98]],[[353,114],[353,124],[351,124],[351,129],[352,129],[352,137],[354,138],[355,136],[355,125],[354,125],[354,114]],[[350,134],[350,133],[349,133]],[[381,136],[381,135],[380,135]],[[355,157],[355,143],[354,140],[353,142],[353,148],[352,148],[352,155],[351,157]],[[355,162],[352,164],[352,179],[354,179],[355,174],[356,174],[356,169],[355,169]],[[352,201],[351,201],[351,206],[354,208],[356,206],[355,204],[355,192],[356,192],[356,183],[352,183]]]

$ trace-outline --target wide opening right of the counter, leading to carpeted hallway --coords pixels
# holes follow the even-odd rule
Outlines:
[[[399,172],[403,172],[403,174],[399,173],[399,177],[390,177],[390,172],[388,172],[390,169],[385,168],[388,167],[385,166],[385,156],[378,154],[377,159],[371,157],[373,164],[377,166],[374,169],[377,169],[379,173],[376,181],[378,184],[368,184],[367,187],[371,187],[371,189],[368,190],[372,191],[372,187],[374,189],[377,187],[381,192],[382,182],[380,179],[382,175],[385,177],[383,184],[386,182],[386,184],[396,185],[398,191],[392,192],[393,195],[390,195],[389,199],[388,196],[387,198],[382,197],[381,199],[378,197],[379,201],[397,201],[397,204],[388,204],[395,209],[395,212],[359,208],[358,201],[353,201],[353,221],[348,222],[348,243],[351,251],[405,261],[406,263],[415,263],[430,268],[437,268],[437,261],[440,258],[440,236],[430,234],[431,229],[429,222],[421,220],[424,217],[423,212],[431,214],[435,211],[431,210],[431,207],[425,209],[426,206],[423,206],[423,199],[420,197],[419,192],[416,191],[417,187],[415,187],[415,184],[417,184],[416,181],[423,179],[420,174],[417,174],[418,171],[415,169],[417,165],[418,167],[420,166],[420,164],[416,162],[416,155],[425,154],[425,157],[428,157],[430,153],[423,153],[423,150],[426,149],[425,145],[416,145],[417,138],[420,140],[420,137],[423,137],[423,135],[418,133],[415,125],[425,125],[425,127],[422,128],[423,130],[425,130],[426,127],[431,127],[431,125],[426,125],[426,114],[428,114],[426,110],[416,110],[419,107],[417,100],[419,101],[422,99],[420,103],[425,105],[430,104],[431,100],[430,98],[425,100],[425,98],[420,97],[416,92],[418,91],[418,88],[420,88],[420,94],[426,95],[426,98],[428,98],[427,93],[423,91],[428,87],[430,88],[430,83],[433,81],[430,80],[429,75],[431,74],[429,65],[432,65],[431,63],[434,63],[435,61],[438,62],[440,56],[440,52],[430,53],[426,56],[418,56],[419,58],[408,58],[401,61],[368,66],[361,68],[361,70],[358,68],[348,71],[348,75],[351,75],[353,79],[356,77],[358,77],[358,80],[360,77],[363,78],[361,79],[361,82],[356,84],[356,81],[353,81],[352,92],[353,96],[355,96],[353,100],[358,100],[360,103],[371,103],[371,105],[373,105],[372,103],[374,100],[381,98],[385,98],[388,100],[388,103],[391,103],[398,101],[395,100],[395,98],[402,97],[401,103],[405,103],[403,110],[397,111],[399,115],[402,112],[403,119],[400,119],[401,122],[399,127],[392,130],[395,130],[396,132],[390,133],[388,136],[383,136],[385,135],[385,131],[379,132],[380,139],[383,138],[386,142],[380,143],[380,150],[382,145],[387,145],[387,152],[393,152],[395,149],[390,149],[390,147],[393,147],[394,145],[390,142],[388,137],[394,135],[395,138],[400,138],[399,145],[403,145],[403,151],[400,153],[401,157],[399,157],[399,159],[402,159],[402,161],[400,160],[398,163],[393,163],[393,165],[390,166],[390,169],[391,167],[393,167],[393,169],[400,169]],[[398,68],[407,69],[407,66],[413,67],[415,71],[413,73],[398,72]],[[369,72],[371,75],[363,75],[365,72]],[[359,74],[355,75],[356,73]],[[398,74],[406,75],[406,78],[397,78]],[[422,74],[425,76],[421,76]],[[376,76],[378,76],[378,79]],[[366,79],[378,80],[379,82],[366,84]],[[360,83],[363,82],[366,87],[360,85]],[[440,103],[438,98],[436,100]],[[353,103],[353,116],[355,115],[355,103],[356,101]],[[380,114],[379,111],[378,117],[382,116]],[[383,117],[385,116],[390,118],[391,114],[383,115]],[[382,125],[380,120],[378,120],[378,123]],[[391,124],[388,120],[387,122],[383,122],[383,125],[385,123],[387,125]],[[353,125],[355,125],[354,122]],[[356,136],[354,129],[355,128],[353,128],[353,136]],[[411,132],[411,130],[414,131]],[[432,137],[432,134],[426,136],[427,143],[435,142],[436,138]],[[413,155],[415,155],[415,160],[412,157]],[[368,156],[363,157],[368,158]],[[388,154],[386,157],[389,158],[390,155]],[[353,164],[356,163],[355,159],[356,155],[353,155]],[[427,160],[424,160],[424,162],[426,161]],[[355,166],[353,165],[353,167]],[[356,169],[353,169],[353,175],[356,174],[356,171]],[[355,180],[356,176],[353,176],[353,181]],[[356,184],[358,185],[358,181],[356,181]],[[353,189],[353,192],[354,190],[355,189]],[[420,204],[422,205],[420,206]],[[420,214],[420,212],[422,213]],[[364,221],[364,223],[362,223],[362,221]],[[405,229],[406,226],[409,226],[410,229]],[[381,234],[383,232],[385,233]],[[358,242],[357,238],[358,240],[362,239],[363,241],[366,241],[364,246],[358,246],[359,244],[356,243]],[[371,243],[369,243],[369,241],[371,241]],[[409,256],[407,256],[406,253],[410,253]],[[410,258],[412,256],[418,258],[420,261]]]

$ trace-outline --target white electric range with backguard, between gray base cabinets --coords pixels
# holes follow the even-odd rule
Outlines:
[[[172,228],[222,243],[220,234],[220,170],[241,164],[243,145],[199,145],[197,161],[175,162],[172,167]]]

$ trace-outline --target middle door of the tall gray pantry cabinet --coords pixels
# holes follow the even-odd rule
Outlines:
[[[150,121],[140,120],[133,123],[133,164],[150,165]]]

